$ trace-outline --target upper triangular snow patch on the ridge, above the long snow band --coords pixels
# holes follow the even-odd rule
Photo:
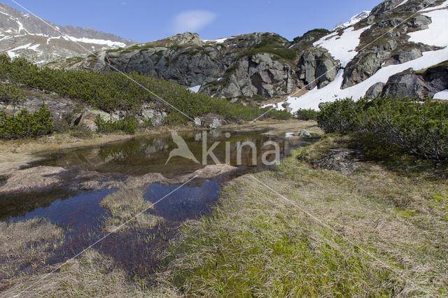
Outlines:
[[[356,47],[359,45],[360,35],[369,27],[363,29],[355,30],[353,27],[349,27],[344,30],[344,33],[339,36],[336,32],[323,36],[323,38],[316,41],[313,45],[321,46],[330,52],[332,57],[341,62],[341,66],[345,67],[351,60],[358,55],[355,51]]]

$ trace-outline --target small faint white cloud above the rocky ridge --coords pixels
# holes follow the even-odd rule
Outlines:
[[[173,17],[172,29],[174,34],[186,31],[197,32],[216,20],[216,13],[207,10],[187,10]]]

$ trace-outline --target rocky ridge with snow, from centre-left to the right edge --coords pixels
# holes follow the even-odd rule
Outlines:
[[[202,40],[186,32],[48,66],[137,71],[212,97],[250,105],[274,102],[288,111],[365,94],[432,98],[448,89],[444,71],[414,72],[448,60],[448,38],[440,29],[447,13],[444,0],[386,0],[336,30],[310,30],[293,41],[263,32]]]

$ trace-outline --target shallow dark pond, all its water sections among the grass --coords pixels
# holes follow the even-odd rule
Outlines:
[[[307,142],[288,139],[279,136],[266,136],[262,132],[192,132],[183,134],[183,141],[193,156],[202,161],[202,148],[207,150],[215,145],[213,150],[216,159],[224,163],[240,166],[246,173],[264,168],[260,161],[265,155],[273,160],[275,155],[267,154],[272,146],[266,146],[268,141],[278,145],[278,158],[290,155],[290,150],[307,145]],[[237,150],[238,142],[249,141],[254,144]],[[141,176],[146,173],[162,173],[172,178],[192,173],[204,167],[204,164],[194,162],[184,157],[172,156],[170,152],[179,147],[172,136],[139,137],[129,141],[110,143],[104,146],[64,150],[43,154],[43,159],[33,166],[62,166],[64,169],[82,169],[99,173],[111,173],[117,179],[130,176]],[[229,154],[230,153],[230,154]],[[266,153],[266,154],[265,154]],[[255,160],[255,164],[253,161]],[[208,164],[216,161],[209,159]],[[175,235],[176,227],[188,219],[198,218],[211,211],[220,193],[222,181],[202,180],[195,183],[180,185],[162,185],[153,183],[145,189],[144,199],[152,201],[155,209],[151,213],[166,220],[165,227],[133,232],[114,233],[104,239],[99,247],[106,255],[110,255],[120,264],[127,267],[129,274],[144,274],[151,270],[142,264],[152,264],[151,255],[158,250],[158,241],[142,243],[141,235],[148,239],[167,240],[167,234]],[[178,190],[176,190],[179,188]],[[173,192],[176,190],[175,192]],[[101,201],[115,190],[78,191],[76,187],[65,189],[59,187],[45,192],[14,194],[0,198],[0,220],[3,222],[18,222],[31,218],[48,218],[50,222],[64,228],[64,246],[58,248],[54,257],[47,264],[62,262],[79,253],[90,244],[106,234],[104,221],[109,212],[101,206]],[[172,193],[171,193],[172,192]],[[170,194],[171,193],[171,194]],[[169,195],[167,195],[169,194]],[[165,197],[167,196],[167,197]],[[165,197],[165,198],[164,198]],[[162,199],[164,198],[164,199]],[[160,199],[162,199],[160,201]],[[150,212],[150,211],[148,211]],[[148,236],[153,235],[153,236]],[[147,258],[150,258],[146,260]],[[136,260],[136,262],[131,262]],[[151,266],[149,266],[151,267]],[[150,272],[151,273],[151,272]]]

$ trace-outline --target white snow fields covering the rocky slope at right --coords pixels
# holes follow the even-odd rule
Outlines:
[[[286,102],[290,104],[290,108],[293,108],[293,112],[297,111],[299,108],[312,108],[314,110],[318,110],[318,105],[321,102],[325,101],[335,101],[336,99],[344,99],[346,97],[351,97],[353,99],[360,99],[363,97],[367,90],[372,87],[375,83],[386,83],[388,78],[395,75],[396,73],[400,73],[405,71],[406,69],[414,69],[415,71],[426,69],[435,64],[439,64],[441,62],[448,60],[448,9],[442,9],[448,5],[448,1],[445,1],[442,6],[437,6],[435,8],[427,8],[428,11],[423,13],[428,17],[431,17],[432,23],[428,25],[428,29],[416,31],[413,33],[409,33],[410,36],[409,41],[413,41],[415,43],[426,43],[427,45],[437,45],[439,47],[445,47],[442,50],[434,50],[429,52],[423,52],[423,56],[414,59],[412,61],[406,62],[404,64],[391,65],[386,66],[373,76],[368,78],[367,80],[359,83],[358,85],[354,85],[353,87],[346,88],[344,90],[341,89],[344,70],[340,70],[337,73],[337,77],[335,80],[323,87],[322,89],[314,88],[302,95],[301,97],[288,97]],[[439,9],[439,10],[434,10]],[[365,28],[367,29],[367,28]],[[365,30],[364,29],[364,30]],[[351,50],[354,50],[356,46],[359,44],[359,36],[362,33],[363,29],[358,31],[353,31],[353,28],[346,29],[344,34],[340,39],[337,39],[335,34],[330,34],[325,36],[325,38],[329,38],[328,41],[323,41],[322,38],[320,41],[317,41],[315,45],[320,45],[323,48],[326,48],[330,51],[331,55],[333,55],[339,61],[344,62],[342,66],[345,66],[353,57],[356,55],[356,52],[353,53]],[[353,55],[354,54],[354,55]],[[442,91],[437,93],[438,97],[447,97],[447,92]],[[435,97],[434,97],[435,98]],[[438,98],[443,99],[443,98]],[[276,104],[276,108],[279,110],[283,110],[283,103]],[[272,105],[267,105],[272,106]]]

